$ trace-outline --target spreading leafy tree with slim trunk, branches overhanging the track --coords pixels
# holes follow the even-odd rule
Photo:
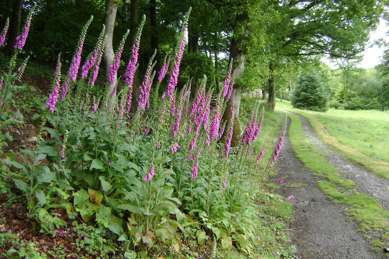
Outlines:
[[[364,50],[370,30],[375,28],[383,12],[377,0],[284,0],[274,1],[279,23],[268,27],[272,33],[269,49],[271,84],[268,103],[275,105],[275,70],[279,61],[307,61],[318,54],[355,58]]]

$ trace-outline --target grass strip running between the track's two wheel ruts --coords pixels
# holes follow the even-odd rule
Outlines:
[[[361,231],[377,232],[371,238],[373,251],[378,251],[389,238],[389,213],[380,208],[380,204],[371,196],[352,191],[357,185],[352,180],[343,179],[319,150],[303,133],[302,122],[296,115],[288,114],[291,118],[288,136],[296,157],[310,170],[322,175],[327,180],[317,182],[318,187],[337,203],[349,205],[345,213],[355,218],[361,226]]]

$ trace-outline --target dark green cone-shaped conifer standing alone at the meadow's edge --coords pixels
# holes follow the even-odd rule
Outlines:
[[[294,108],[325,112],[328,108],[328,95],[322,79],[316,70],[301,72],[297,85],[291,94]]]

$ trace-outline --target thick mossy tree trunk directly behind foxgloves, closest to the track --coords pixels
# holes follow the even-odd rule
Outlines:
[[[243,23],[247,23],[249,19],[248,12],[245,10],[242,13],[238,13],[236,16],[236,24],[242,25]],[[242,43],[248,37],[248,32],[240,35],[237,39],[233,38],[231,40],[230,47],[230,62],[232,63],[232,71],[235,72],[235,83],[233,89],[235,91],[235,118],[234,118],[234,129],[233,129],[233,137],[231,140],[231,145],[237,146],[240,143],[240,136],[242,135],[242,128],[240,127],[239,122],[239,110],[240,110],[240,100],[242,99],[242,84],[240,79],[242,79],[242,75],[244,72],[244,61],[246,57],[246,53],[244,49],[241,49]],[[227,102],[226,110],[223,114],[223,120],[229,121],[231,118],[231,105],[232,98]]]

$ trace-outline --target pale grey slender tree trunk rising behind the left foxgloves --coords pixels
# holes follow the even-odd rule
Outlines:
[[[104,37],[107,37],[107,42],[105,42],[104,54],[103,54],[103,64],[104,64],[104,72],[105,75],[108,75],[109,66],[112,64],[112,61],[115,58],[114,48],[112,46],[112,38],[114,36],[114,27],[115,27],[115,18],[117,11],[117,0],[105,0],[105,17],[104,17],[104,25],[105,25],[105,34]],[[114,100],[115,96],[111,96],[110,93],[114,91],[114,88],[117,83],[117,73],[114,77],[114,83],[111,84],[109,80],[107,80],[107,85],[109,85],[108,93],[108,107],[109,109],[114,108]]]

